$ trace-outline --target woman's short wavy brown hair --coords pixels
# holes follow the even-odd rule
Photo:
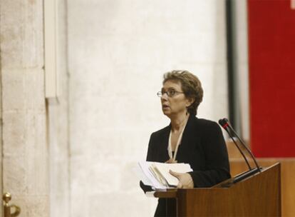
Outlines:
[[[180,81],[182,91],[185,93],[187,98],[194,99],[194,102],[187,107],[188,113],[196,116],[197,107],[203,100],[203,89],[201,81],[190,71],[174,70],[169,71],[163,76],[163,83],[165,84],[168,80]]]

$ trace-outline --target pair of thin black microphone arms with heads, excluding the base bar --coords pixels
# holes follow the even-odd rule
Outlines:
[[[239,139],[239,142],[242,143],[242,145],[244,146],[244,148],[246,148],[246,150],[248,151],[248,153],[250,154],[250,156],[252,157],[256,167],[257,167],[257,171],[261,172],[261,168],[258,166],[258,163],[256,161],[256,159],[254,158],[254,155],[252,153],[252,151],[248,148],[248,146],[246,145],[246,143],[244,143],[244,141],[242,141],[241,138],[239,138],[239,136],[237,135],[236,131],[234,131],[234,128],[232,128],[232,126],[229,124],[229,121],[227,120],[227,118],[222,118],[218,121],[218,123],[222,126],[222,128],[224,128],[227,133],[229,133],[229,131],[231,133],[229,133],[229,136],[232,138],[232,133],[234,134],[235,137],[237,137]],[[229,130],[228,130],[229,129]],[[232,138],[232,141],[234,141],[234,138]],[[234,142],[235,143],[235,142]],[[237,146],[237,143],[235,143]],[[239,151],[242,153],[241,149],[238,148]],[[244,157],[245,161],[247,162],[248,166],[249,166],[249,162],[246,160],[246,157],[244,156],[244,154],[242,153],[242,156]],[[249,169],[251,170],[252,168],[249,166]]]

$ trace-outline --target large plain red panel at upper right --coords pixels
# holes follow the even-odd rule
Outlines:
[[[251,144],[257,157],[295,157],[295,10],[248,0]]]

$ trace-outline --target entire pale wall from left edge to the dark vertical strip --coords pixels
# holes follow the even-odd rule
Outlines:
[[[198,116],[227,116],[224,1],[58,1],[57,104],[44,97],[42,1],[0,12],[3,188],[21,216],[152,216],[133,168],[169,123],[162,74],[194,72]]]

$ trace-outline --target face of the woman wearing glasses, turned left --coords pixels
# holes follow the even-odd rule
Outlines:
[[[173,96],[168,96],[166,91],[175,91]],[[168,116],[177,116],[187,112],[187,106],[192,104],[192,100],[187,99],[182,93],[182,86],[180,81],[168,80],[162,87],[161,104],[163,113]]]

